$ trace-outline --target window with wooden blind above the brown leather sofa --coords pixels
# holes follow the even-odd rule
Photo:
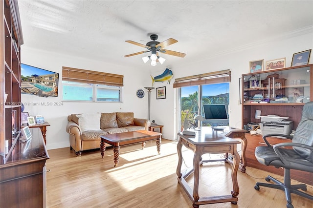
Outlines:
[[[63,67],[63,100],[121,102],[123,76]]]

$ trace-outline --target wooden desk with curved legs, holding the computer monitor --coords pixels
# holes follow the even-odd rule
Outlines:
[[[235,130],[235,129],[234,129]],[[239,129],[238,129],[239,130]],[[230,129],[232,131],[232,129]],[[211,127],[201,127],[200,131],[196,131],[195,136],[182,135],[178,133],[179,142],[177,144],[177,151],[179,155],[179,162],[176,170],[178,175],[178,182],[187,193],[189,199],[193,203],[194,208],[199,208],[200,205],[231,202],[237,204],[239,186],[237,181],[237,170],[239,168],[240,156],[237,152],[237,144],[239,141],[226,137],[229,132],[214,131]],[[194,152],[193,167],[187,169],[183,174],[181,173],[182,165],[182,145]],[[199,166],[202,164],[201,155],[205,153],[231,153],[233,156],[233,166],[231,170],[231,178],[233,183],[233,190],[231,195],[199,197]],[[194,187],[193,190],[189,187],[185,178],[194,172]]]

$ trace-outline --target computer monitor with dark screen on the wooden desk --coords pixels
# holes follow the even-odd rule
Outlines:
[[[203,104],[205,123],[228,125],[228,114],[224,104]]]

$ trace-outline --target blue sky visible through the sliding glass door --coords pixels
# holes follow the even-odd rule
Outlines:
[[[198,91],[198,86],[181,87],[181,97],[188,97]],[[203,96],[214,96],[229,92],[229,83],[202,85]]]

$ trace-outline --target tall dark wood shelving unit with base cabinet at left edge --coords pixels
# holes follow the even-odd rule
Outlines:
[[[21,45],[17,0],[0,3],[0,207],[45,207],[45,161],[49,158],[40,128],[20,141]]]

